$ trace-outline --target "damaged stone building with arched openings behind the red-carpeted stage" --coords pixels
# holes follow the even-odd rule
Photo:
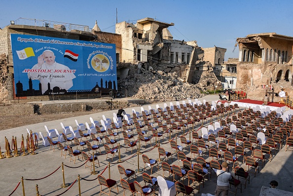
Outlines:
[[[248,92],[250,98],[262,98],[261,85],[272,85],[275,92],[282,87],[293,96],[292,51],[293,37],[276,33],[261,33],[237,38],[239,59],[237,85]]]

